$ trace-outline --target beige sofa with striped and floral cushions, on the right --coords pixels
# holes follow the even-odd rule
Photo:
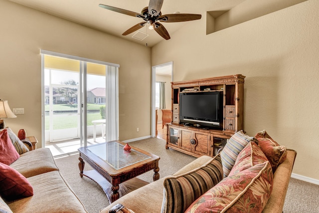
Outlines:
[[[239,131],[213,158],[201,156],[100,213],[120,204],[130,213],[282,213],[296,155],[265,130],[255,137]]]

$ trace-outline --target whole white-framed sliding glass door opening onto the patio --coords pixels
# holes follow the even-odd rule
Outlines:
[[[118,140],[118,65],[41,53],[42,147],[62,155]]]

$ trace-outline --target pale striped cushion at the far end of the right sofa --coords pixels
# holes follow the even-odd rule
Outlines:
[[[223,164],[224,178],[227,177],[233,168],[238,154],[245,148],[250,141],[256,141],[254,137],[245,135],[241,130],[236,132],[226,143],[221,151],[221,161]],[[258,141],[257,141],[258,143]]]

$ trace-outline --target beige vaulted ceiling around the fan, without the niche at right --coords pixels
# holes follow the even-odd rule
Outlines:
[[[143,38],[144,33],[149,34],[144,40],[133,38],[135,32],[129,35],[122,35],[124,31],[133,25],[143,21],[141,18],[125,15],[115,11],[99,7],[99,4],[106,4],[114,7],[141,13],[142,9],[149,5],[149,0],[10,0],[12,2],[34,8],[36,10],[70,20],[84,26],[88,26],[109,34],[131,40],[136,43],[154,46],[164,40],[154,30],[144,26],[139,29],[141,34],[135,37]],[[201,14],[202,20],[206,19],[206,11],[229,10],[244,0],[164,0],[161,13],[170,14],[174,12]],[[161,22],[170,37],[174,32],[183,27],[187,22]],[[138,32],[138,31],[136,31]],[[140,37],[142,36],[142,37]]]

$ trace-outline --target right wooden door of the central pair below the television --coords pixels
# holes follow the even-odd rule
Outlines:
[[[194,144],[194,153],[199,155],[208,155],[210,150],[210,134],[203,132],[194,132],[196,143]]]

